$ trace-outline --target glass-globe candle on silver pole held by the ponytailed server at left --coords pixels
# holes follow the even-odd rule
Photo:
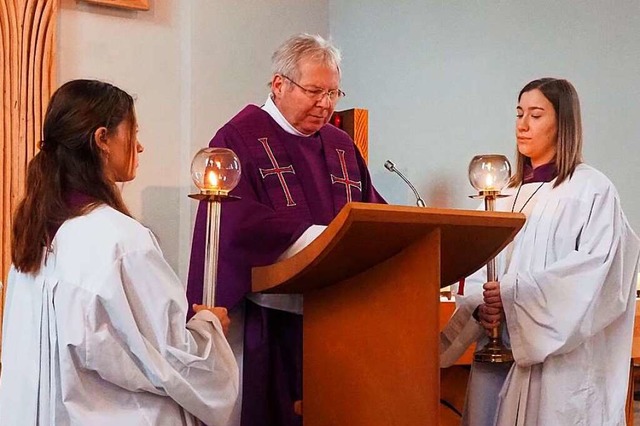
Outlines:
[[[191,179],[198,187],[198,194],[189,197],[207,202],[204,280],[202,304],[215,306],[215,287],[220,250],[220,210],[223,201],[238,200],[229,195],[238,182],[242,168],[238,156],[227,148],[204,148],[191,161]]]

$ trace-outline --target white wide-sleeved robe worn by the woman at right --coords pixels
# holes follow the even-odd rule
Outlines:
[[[527,185],[529,193],[537,185]],[[498,258],[515,363],[506,380],[500,371],[472,369],[468,398],[484,398],[485,407],[468,406],[465,424],[625,424],[640,241],[615,187],[597,170],[579,165],[570,180],[552,185],[536,194],[524,227]],[[513,197],[498,203],[507,211],[512,205]],[[470,315],[482,303],[484,281],[484,268],[467,280],[442,335],[443,366],[483,336]],[[497,411],[496,395],[486,392],[496,384]]]

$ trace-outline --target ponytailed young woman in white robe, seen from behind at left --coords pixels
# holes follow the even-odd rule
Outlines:
[[[197,307],[185,325],[184,285],[115,186],[135,177],[135,133],[112,85],[75,80],[51,99],[14,222],[1,425],[228,424],[228,317]]]

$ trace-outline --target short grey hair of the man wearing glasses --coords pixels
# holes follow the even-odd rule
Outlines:
[[[340,50],[317,34],[297,34],[282,43],[271,56],[273,75],[285,75],[297,81],[301,77],[298,64],[307,58],[335,67],[340,75]]]

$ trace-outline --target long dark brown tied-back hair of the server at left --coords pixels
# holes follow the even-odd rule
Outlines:
[[[52,96],[44,119],[40,152],[29,163],[25,196],[13,218],[11,260],[21,272],[40,270],[44,247],[51,244],[52,229],[67,219],[106,204],[130,216],[120,190],[104,172],[103,156],[95,132],[116,131],[128,121],[131,150],[135,149],[133,98],[123,90],[96,80],[72,80]],[[133,155],[133,151],[132,151]],[[70,193],[94,200],[74,207]]]

